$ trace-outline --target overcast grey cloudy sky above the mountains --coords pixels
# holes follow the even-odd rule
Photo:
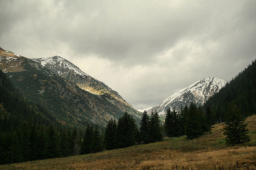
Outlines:
[[[0,0],[0,47],[54,55],[134,108],[256,58],[256,0]]]

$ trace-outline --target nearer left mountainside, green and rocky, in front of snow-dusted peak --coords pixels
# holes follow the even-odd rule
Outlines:
[[[140,121],[141,114],[137,110],[110,94],[89,93],[34,60],[11,51],[0,49],[0,69],[24,97],[49,110],[62,124],[106,126],[109,119],[119,119],[125,111]]]

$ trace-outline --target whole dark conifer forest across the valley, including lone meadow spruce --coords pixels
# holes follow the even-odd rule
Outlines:
[[[166,110],[164,124],[156,111],[144,111],[140,126],[126,112],[118,121],[110,119],[105,129],[62,125],[43,107],[24,98],[0,71],[0,164],[97,153],[161,141],[164,136],[193,139],[220,122],[225,122],[228,144],[244,143],[249,138],[243,120],[255,111],[256,61],[203,106],[192,102],[180,110]],[[237,128],[241,133],[234,136]]]

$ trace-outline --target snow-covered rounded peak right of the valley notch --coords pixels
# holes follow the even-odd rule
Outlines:
[[[166,98],[163,102],[156,106],[146,109],[138,109],[143,112],[144,110],[151,112],[156,110],[159,115],[165,115],[165,111],[170,107],[171,109],[179,109],[181,106],[189,106],[190,102],[195,102],[197,105],[203,105],[214,93],[217,93],[222,87],[226,85],[227,81],[217,77],[208,76],[193,83],[185,89],[181,89],[178,92],[172,94]]]

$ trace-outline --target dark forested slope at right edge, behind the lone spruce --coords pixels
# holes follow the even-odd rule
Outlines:
[[[204,110],[211,112],[212,123],[225,121],[226,109],[231,101],[235,102],[244,117],[256,113],[256,60],[203,105]]]

